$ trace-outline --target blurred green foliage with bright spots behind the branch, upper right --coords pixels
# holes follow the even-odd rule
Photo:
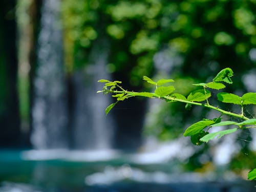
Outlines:
[[[171,76],[179,79],[175,87],[186,87],[230,67],[235,75],[228,91],[245,92],[242,76],[256,66],[248,56],[256,47],[255,0],[63,0],[62,8],[69,72],[86,65],[94,42],[102,38],[110,44],[106,70],[132,87],[141,86],[143,75]],[[154,65],[162,51],[170,58],[166,73]],[[186,95],[193,89],[177,91]],[[176,138],[185,124],[207,113],[197,107],[184,113],[179,103],[159,106],[147,114],[145,133],[163,140]]]

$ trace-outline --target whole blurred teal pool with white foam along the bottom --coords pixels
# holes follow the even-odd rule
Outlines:
[[[138,164],[131,154],[30,152],[0,151],[0,192],[256,191],[254,182],[181,174],[173,162]]]

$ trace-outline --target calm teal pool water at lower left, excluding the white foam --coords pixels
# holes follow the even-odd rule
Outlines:
[[[70,161],[56,158],[28,160],[24,152],[0,152],[0,183],[25,183],[42,188],[82,189],[86,176],[100,172],[109,164],[119,166],[120,160]]]

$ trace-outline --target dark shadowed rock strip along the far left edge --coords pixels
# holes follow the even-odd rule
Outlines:
[[[0,146],[20,142],[17,98],[16,1],[0,2]]]

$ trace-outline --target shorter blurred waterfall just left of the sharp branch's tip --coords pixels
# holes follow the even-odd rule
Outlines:
[[[109,55],[108,42],[95,42],[89,56],[89,63],[83,71],[73,77],[73,147],[79,149],[104,149],[111,146],[113,121],[111,114],[105,115],[104,109],[111,98],[96,92],[102,90],[99,79],[110,79],[105,66]]]

